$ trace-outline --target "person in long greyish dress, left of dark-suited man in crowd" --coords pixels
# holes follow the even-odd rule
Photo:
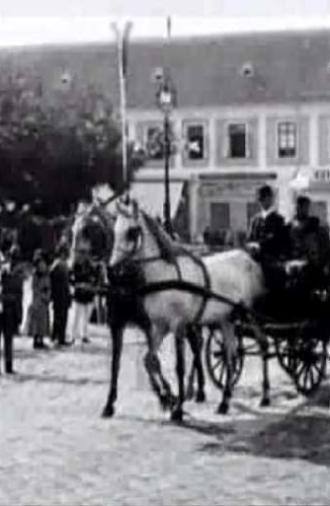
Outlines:
[[[48,348],[43,338],[49,336],[49,302],[51,283],[46,255],[37,250],[33,258],[32,305],[29,334],[33,336],[35,349]]]

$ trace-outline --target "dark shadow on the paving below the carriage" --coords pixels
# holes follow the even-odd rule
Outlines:
[[[213,437],[201,446],[201,452],[222,454],[230,451],[268,458],[303,459],[330,467],[329,401],[330,385],[325,385],[313,399],[286,415],[267,410],[258,418],[235,421],[221,418],[219,423],[190,419],[183,427]]]

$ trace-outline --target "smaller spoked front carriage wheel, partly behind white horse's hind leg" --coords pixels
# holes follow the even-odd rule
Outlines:
[[[211,380],[217,388],[223,389],[227,380],[227,365],[225,361],[225,346],[220,329],[206,328],[205,346],[206,367]],[[206,336],[205,336],[206,337]],[[238,382],[243,368],[244,350],[242,337],[238,338],[238,350],[234,359],[233,386]]]

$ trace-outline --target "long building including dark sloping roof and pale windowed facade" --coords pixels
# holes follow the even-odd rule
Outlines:
[[[304,180],[299,191],[330,221],[330,31],[133,41],[128,56],[128,132],[147,154],[132,191],[147,210],[163,214],[163,117],[154,78],[162,67],[177,90],[172,218],[187,238],[196,240],[207,228],[246,231],[256,190],[266,182],[289,219],[295,182]],[[0,67],[8,62],[38,76],[46,97],[66,76],[65,86],[90,84],[119,104],[113,46],[0,54]]]

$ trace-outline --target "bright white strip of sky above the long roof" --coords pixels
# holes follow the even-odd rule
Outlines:
[[[168,15],[173,37],[330,28],[330,0],[0,0],[0,46],[110,41],[126,20],[133,39],[165,37]]]

